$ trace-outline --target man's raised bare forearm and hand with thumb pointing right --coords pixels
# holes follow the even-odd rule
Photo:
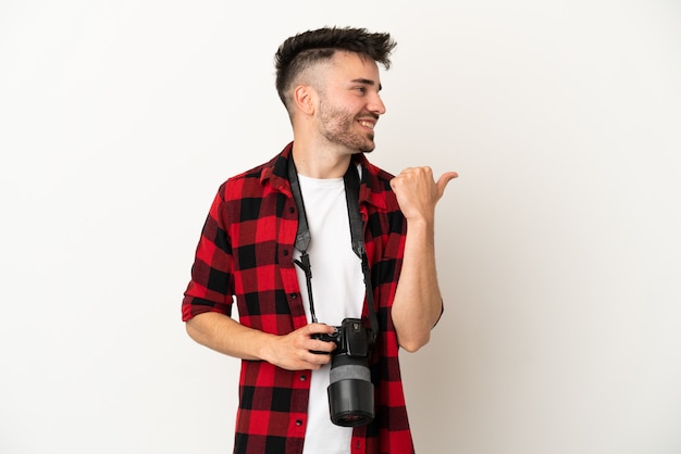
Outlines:
[[[392,315],[399,345],[409,352],[428,343],[442,313],[435,267],[435,205],[457,176],[448,172],[435,182],[431,168],[416,167],[391,180],[407,219],[405,256]]]

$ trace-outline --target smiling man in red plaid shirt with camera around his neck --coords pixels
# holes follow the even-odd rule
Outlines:
[[[363,28],[321,28],[284,41],[276,88],[294,140],[225,181],[210,209],[183,319],[194,340],[243,360],[235,453],[413,452],[398,349],[424,345],[443,311],[434,212],[457,174],[435,181],[419,167],[393,177],[364,157],[385,113],[377,64],[389,67],[394,47],[388,34]],[[354,203],[367,269],[348,220],[352,173],[361,174]],[[301,247],[305,224],[311,241]],[[233,298],[239,321],[231,318]],[[375,417],[356,427],[330,420],[326,387],[338,345],[320,339],[348,318],[376,335],[367,360]]]

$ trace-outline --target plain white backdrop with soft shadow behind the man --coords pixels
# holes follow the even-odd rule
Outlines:
[[[389,31],[371,159],[454,169],[421,454],[681,452],[674,0],[0,2],[0,453],[231,452],[179,303],[228,176],[290,140],[286,37]]]

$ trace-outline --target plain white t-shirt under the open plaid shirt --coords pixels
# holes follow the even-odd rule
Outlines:
[[[312,297],[319,323],[339,326],[344,318],[360,318],[364,285],[361,262],[350,240],[343,178],[315,179],[299,175],[300,191],[310,228],[308,254],[312,268]],[[300,253],[296,251],[295,258]],[[310,317],[305,273],[296,266],[305,312]],[[336,426],[329,414],[327,364],[312,371],[308,427],[304,454],[349,454],[351,427]]]

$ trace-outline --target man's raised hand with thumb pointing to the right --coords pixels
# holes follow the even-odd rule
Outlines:
[[[409,167],[391,180],[391,187],[408,220],[432,222],[435,205],[443,197],[447,184],[458,176],[456,172],[446,172],[435,181],[431,167]]]

